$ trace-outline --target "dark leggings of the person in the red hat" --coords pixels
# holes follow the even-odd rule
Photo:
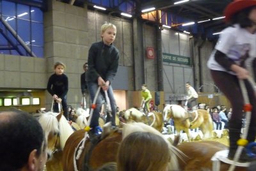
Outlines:
[[[238,78],[236,77],[236,75],[231,75],[225,71],[211,70],[211,75],[215,84],[218,86],[220,91],[225,94],[225,96],[228,98],[232,105],[233,113],[228,124],[228,130],[231,132],[240,133],[242,128],[244,100],[241,88],[239,86]],[[244,84],[248,92],[247,94],[250,103],[253,106],[247,139],[249,140],[249,142],[254,142],[256,133],[256,98],[253,90],[253,85],[251,85],[248,80],[244,80]],[[249,121],[246,122],[248,123]]]

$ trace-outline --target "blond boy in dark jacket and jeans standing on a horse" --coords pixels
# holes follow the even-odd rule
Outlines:
[[[97,107],[93,110],[92,121],[90,123],[91,135],[97,135],[99,128],[100,108],[102,101],[105,99],[104,91],[107,91],[110,105],[111,115],[107,115],[106,122],[111,121],[113,127],[115,124],[116,101],[114,98],[111,81],[115,78],[119,64],[119,52],[113,45],[116,38],[116,26],[106,23],[101,26],[102,41],[92,44],[88,54],[88,71],[86,72],[86,82],[91,100],[95,98],[98,87],[101,87],[99,96],[97,97]]]

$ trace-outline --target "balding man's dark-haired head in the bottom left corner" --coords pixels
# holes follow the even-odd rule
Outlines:
[[[0,111],[0,170],[42,171],[47,160],[44,132],[20,110]]]

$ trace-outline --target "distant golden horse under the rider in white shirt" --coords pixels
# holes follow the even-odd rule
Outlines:
[[[180,105],[166,105],[163,112],[165,122],[171,118],[173,119],[177,135],[180,134],[180,131],[184,130],[188,136],[188,140],[190,140],[189,129],[200,128],[204,134],[204,138],[212,137],[213,123],[211,115],[207,110],[198,109],[193,112],[187,112]]]

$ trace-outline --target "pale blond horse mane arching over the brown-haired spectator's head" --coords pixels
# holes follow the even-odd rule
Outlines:
[[[183,156],[185,156],[185,154],[181,152],[179,149],[177,149],[176,147],[174,147],[166,138],[164,138],[164,136],[159,131],[152,128],[151,126],[148,126],[147,124],[129,123],[129,124],[125,124],[124,126],[124,129],[122,131],[122,135],[123,135],[122,138],[124,139],[125,137],[127,137],[128,135],[134,132],[150,132],[162,137],[165,140],[165,142],[168,144],[168,147],[170,150],[171,161],[168,165],[169,169],[179,170],[179,162],[177,160],[177,156],[182,159]]]

